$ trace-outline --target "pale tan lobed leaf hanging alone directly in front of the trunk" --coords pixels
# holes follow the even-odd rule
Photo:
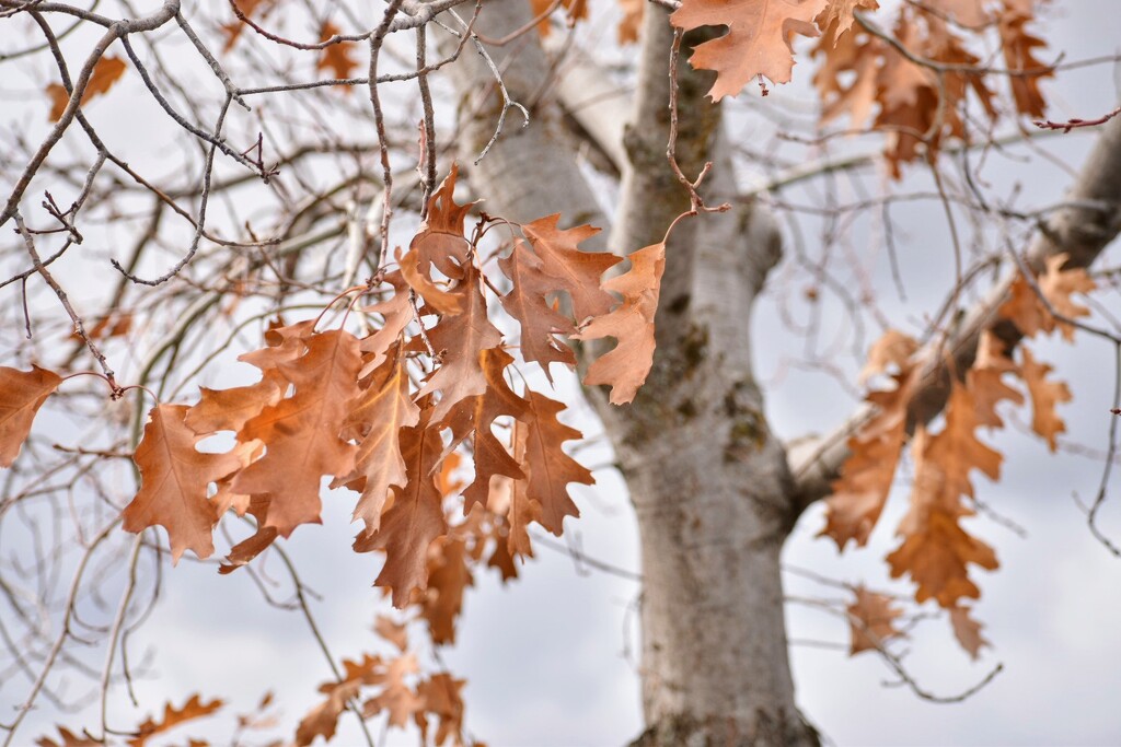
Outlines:
[[[604,353],[587,368],[584,383],[609,384],[611,403],[634,399],[654,365],[654,318],[658,311],[661,273],[666,270],[665,243],[631,253],[631,269],[603,283],[605,290],[622,295],[623,302],[608,315],[596,317],[581,329],[576,339],[614,337],[614,349]]]

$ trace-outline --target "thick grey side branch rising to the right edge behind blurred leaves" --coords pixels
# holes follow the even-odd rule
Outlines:
[[[1068,267],[1090,267],[1121,232],[1121,119],[1113,119],[1102,128],[1082,171],[1067,190],[1066,204],[1068,207],[1056,212],[1028,248],[1028,263],[1037,271],[1043,269],[1048,256],[1064,252],[1069,254]],[[954,370],[967,371],[973,364],[978,340],[985,329],[992,329],[1008,349],[1020,342],[1016,327],[997,316],[997,309],[1007,299],[1009,287],[1018,276],[1019,270],[1012,268],[986,298],[966,314],[960,332],[947,346],[953,353]],[[926,364],[921,387],[908,412],[911,431],[918,423],[934,419],[949,396],[949,368],[938,354],[938,342],[920,353]],[[795,501],[799,510],[832,493],[833,480],[850,455],[849,437],[870,415],[869,408],[861,408],[835,431],[821,439],[804,441],[798,452],[791,455],[797,484]]]

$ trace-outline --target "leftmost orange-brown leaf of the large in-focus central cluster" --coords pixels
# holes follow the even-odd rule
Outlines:
[[[187,407],[159,404],[148,413],[143,439],[133,457],[140,470],[140,491],[121,513],[123,529],[140,532],[160,525],[172,544],[172,562],[184,550],[200,558],[214,552],[217,507],[206,497],[207,486],[241,468],[238,454],[202,454],[204,438],[187,428]]]

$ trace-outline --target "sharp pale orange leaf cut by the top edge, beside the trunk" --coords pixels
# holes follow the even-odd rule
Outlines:
[[[826,0],[684,0],[669,17],[686,31],[726,26],[728,34],[697,45],[689,63],[716,71],[713,101],[738,94],[757,75],[788,83],[794,69],[795,34],[817,36],[813,20]]]

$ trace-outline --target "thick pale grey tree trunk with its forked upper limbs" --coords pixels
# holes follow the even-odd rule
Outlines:
[[[491,2],[481,19],[501,36],[528,19],[528,3]],[[671,31],[650,6],[610,245],[619,253],[661,241],[688,197],[666,161]],[[687,43],[689,39],[687,39]],[[507,134],[471,179],[488,209],[513,220],[560,212],[566,223],[605,225],[554,110],[537,95],[547,72],[536,39],[491,50],[511,94],[535,101],[535,122]],[[695,175],[716,167],[706,198],[734,193],[721,110],[704,99],[707,73],[682,65],[678,160]],[[489,73],[469,59],[463,92]],[[470,149],[490,137],[490,93],[466,122]],[[593,123],[585,124],[590,132]],[[509,128],[509,125],[508,125]],[[611,129],[593,137],[609,139]],[[604,150],[610,150],[604,148]],[[619,152],[615,150],[614,152]],[[538,165],[548,169],[543,178]],[[641,745],[800,745],[816,734],[797,711],[787,657],[779,553],[795,516],[781,445],[771,435],[751,372],[750,315],[779,259],[770,216],[752,205],[678,225],[668,246],[654,370],[633,404],[590,392],[614,443],[642,548]]]

